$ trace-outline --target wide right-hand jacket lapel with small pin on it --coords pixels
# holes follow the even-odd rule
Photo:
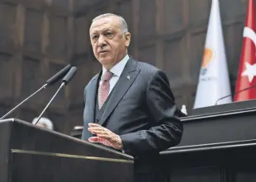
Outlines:
[[[138,76],[140,70],[137,70],[137,63],[130,58],[126,63],[126,67],[121,73],[121,77],[118,82],[116,82],[116,86],[114,87],[113,92],[111,93],[110,100],[106,105],[106,110],[102,115],[102,119],[98,122],[98,124],[104,124],[111,114],[113,110],[115,110],[116,105],[120,102],[121,98],[126,94],[126,91],[130,88],[131,84],[135,81],[135,78]]]

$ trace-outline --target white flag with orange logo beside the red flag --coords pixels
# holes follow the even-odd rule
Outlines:
[[[225,56],[220,5],[218,0],[212,0],[194,109],[230,103],[232,96],[229,95],[230,77]]]

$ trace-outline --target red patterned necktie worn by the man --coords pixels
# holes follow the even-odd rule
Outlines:
[[[102,81],[100,82],[100,86],[98,88],[98,106],[99,109],[102,108],[102,105],[104,105],[104,102],[107,100],[107,96],[109,94],[110,90],[110,83],[109,80],[113,76],[113,73],[110,71],[107,71],[104,73]]]

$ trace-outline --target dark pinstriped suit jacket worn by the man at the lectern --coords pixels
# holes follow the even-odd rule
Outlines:
[[[123,150],[135,158],[151,156],[177,145],[183,134],[177,106],[164,72],[130,58],[108,100],[102,119],[95,121],[95,100],[101,72],[84,89],[82,138],[92,136],[96,122],[120,135]]]

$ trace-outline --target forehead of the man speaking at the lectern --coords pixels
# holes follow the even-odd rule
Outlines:
[[[118,27],[119,26],[119,18],[116,16],[107,16],[98,19],[97,21],[93,21],[90,27],[90,31],[92,30],[101,30],[107,27]]]

